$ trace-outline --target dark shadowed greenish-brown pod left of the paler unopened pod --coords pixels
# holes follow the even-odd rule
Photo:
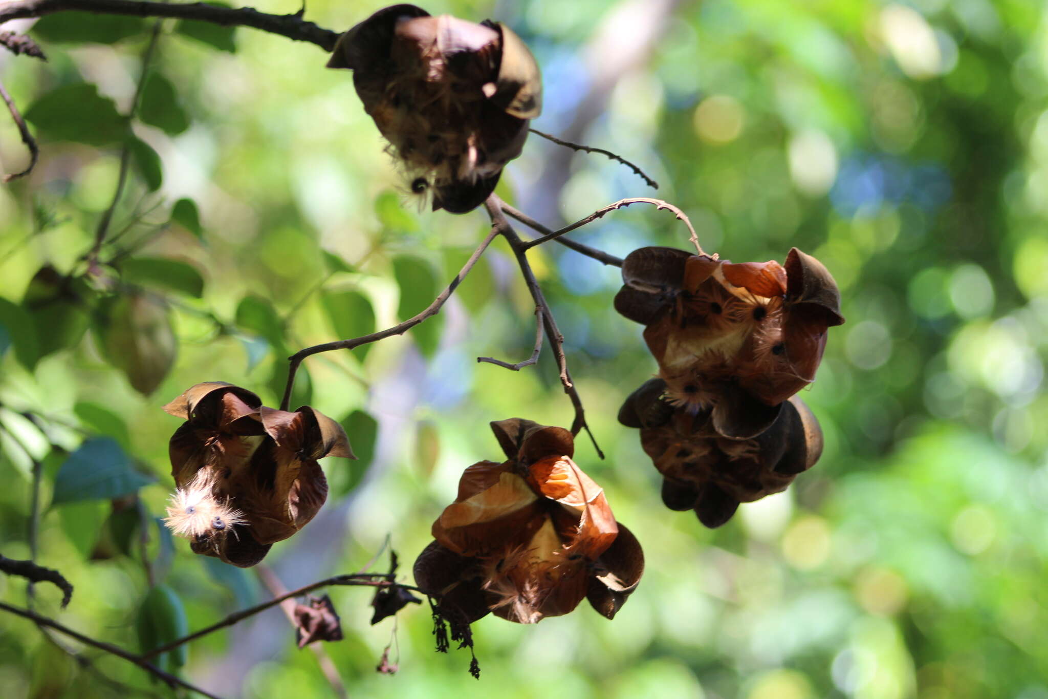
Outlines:
[[[32,318],[40,358],[80,343],[90,324],[87,293],[86,284],[67,279],[50,265],[34,275],[22,307]]]

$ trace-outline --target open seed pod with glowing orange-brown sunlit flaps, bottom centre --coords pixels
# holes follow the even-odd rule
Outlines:
[[[492,429],[508,460],[462,474],[415,563],[419,588],[468,620],[489,610],[533,624],[587,595],[613,616],[639,582],[643,553],[630,533],[616,544],[623,529],[604,489],[571,460],[571,433],[519,418]]]

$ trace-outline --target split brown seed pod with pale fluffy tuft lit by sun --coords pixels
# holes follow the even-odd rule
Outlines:
[[[176,492],[166,523],[195,552],[237,566],[261,561],[320,510],[327,481],[316,459],[354,458],[330,418],[265,408],[231,384],[197,384],[163,409],[185,420],[169,446]]]

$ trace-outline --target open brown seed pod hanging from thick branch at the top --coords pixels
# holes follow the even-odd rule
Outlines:
[[[539,66],[508,27],[410,4],[378,10],[344,34],[329,68],[353,70],[364,108],[412,190],[462,214],[495,190],[542,110]]]

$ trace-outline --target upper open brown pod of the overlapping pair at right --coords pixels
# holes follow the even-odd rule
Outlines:
[[[814,379],[827,328],[844,323],[833,278],[796,248],[784,267],[642,247],[624,261],[623,281],[615,308],[647,326],[667,394],[692,412],[734,387],[766,406],[786,400]],[[739,415],[750,411],[732,400]]]

